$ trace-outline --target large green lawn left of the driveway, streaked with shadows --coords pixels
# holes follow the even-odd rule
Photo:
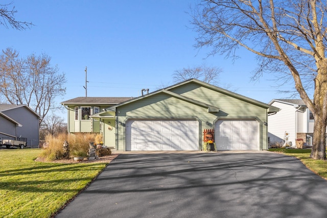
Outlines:
[[[44,163],[40,149],[0,150],[0,216],[51,217],[107,163]]]

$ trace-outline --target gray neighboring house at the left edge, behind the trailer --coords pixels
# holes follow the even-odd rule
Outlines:
[[[27,146],[38,148],[40,116],[27,105],[0,104],[0,137],[27,138]]]

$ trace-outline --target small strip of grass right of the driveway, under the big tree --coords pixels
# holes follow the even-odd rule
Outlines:
[[[311,171],[320,177],[327,179],[327,161],[313,160],[309,158],[311,149],[269,149],[271,152],[282,152],[286,155],[294,156],[302,161]]]

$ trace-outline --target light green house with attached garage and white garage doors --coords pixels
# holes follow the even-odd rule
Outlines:
[[[75,119],[80,116],[76,107],[83,113],[82,107],[74,107],[68,107],[69,132],[89,131],[90,126]],[[274,106],[191,79],[100,107],[89,117],[92,130],[103,134],[105,145],[121,151],[201,150],[207,130],[214,132],[218,150],[266,150],[267,117],[277,111]]]

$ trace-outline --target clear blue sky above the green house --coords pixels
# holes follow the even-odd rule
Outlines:
[[[7,1],[10,3],[11,1]],[[190,28],[192,0],[33,1],[15,0],[17,20],[35,26],[25,31],[0,27],[1,49],[12,47],[21,56],[46,53],[66,75],[62,101],[85,96],[138,96],[174,84],[172,74],[205,63],[222,68],[220,86],[268,103],[286,98],[271,76],[250,81],[255,56],[240,50],[233,62],[224,56],[207,57],[209,48],[195,49],[197,34]],[[4,2],[2,3],[4,4]]]

